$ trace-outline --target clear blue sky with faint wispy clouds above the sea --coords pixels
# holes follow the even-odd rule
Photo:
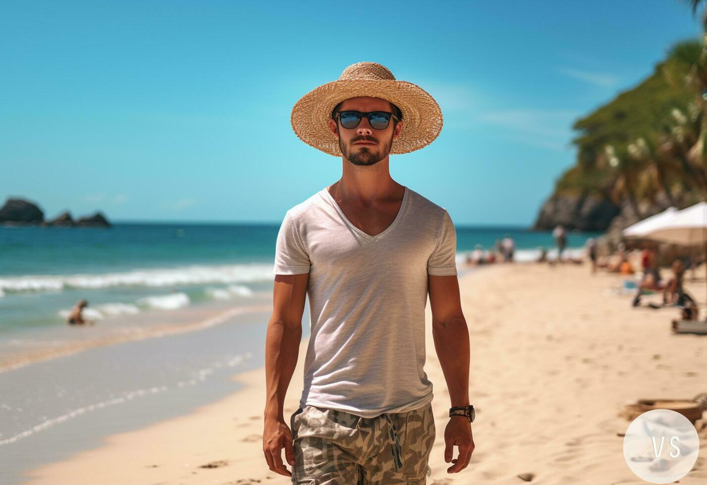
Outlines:
[[[280,222],[341,176],[293,104],[358,61],[438,100],[394,179],[456,224],[532,224],[576,118],[699,35],[677,0],[13,1],[0,7],[0,198],[54,217]]]

